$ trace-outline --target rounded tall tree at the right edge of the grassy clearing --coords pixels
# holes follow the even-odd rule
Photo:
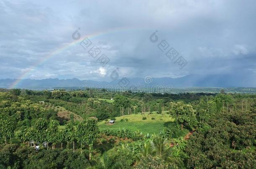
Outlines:
[[[181,125],[181,130],[183,130],[183,126],[192,125],[196,121],[195,111],[190,104],[180,101],[171,102],[170,111],[171,115],[175,117],[175,121]]]

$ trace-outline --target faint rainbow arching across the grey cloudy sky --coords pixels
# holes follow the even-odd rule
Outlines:
[[[19,76],[16,81],[14,81],[10,87],[10,88],[16,88],[16,86],[18,86],[18,84],[24,80],[24,78],[27,76],[28,73],[30,73],[33,68],[36,68],[40,65],[42,65],[43,63],[45,63],[46,61],[48,61],[50,58],[56,56],[57,54],[67,50],[68,48],[71,48],[72,46],[75,46],[77,45],[78,43],[81,43],[84,38],[96,38],[98,36],[101,36],[101,35],[107,35],[107,34],[112,34],[112,33],[117,33],[117,32],[123,32],[123,31],[129,31],[129,30],[145,30],[144,28],[115,28],[115,29],[112,29],[112,30],[107,30],[107,31],[102,31],[102,32],[97,32],[97,33],[91,33],[89,35],[85,35],[83,37],[81,37],[79,40],[75,40],[74,42],[71,42],[71,43],[68,43],[66,45],[63,45],[62,47],[60,48],[57,48],[55,50],[53,50],[50,54],[46,55],[44,58],[42,58],[40,61],[37,61],[36,63],[34,63],[32,66],[30,66],[27,71],[24,71],[23,74],[21,74],[21,76]],[[92,42],[93,43],[93,42]]]

